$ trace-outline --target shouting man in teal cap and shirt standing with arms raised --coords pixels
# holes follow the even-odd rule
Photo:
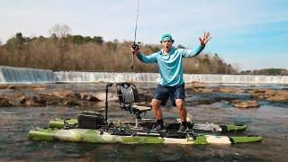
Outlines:
[[[172,36],[164,34],[160,40],[163,49],[148,56],[139,52],[139,46],[132,46],[131,51],[133,55],[136,54],[141,62],[158,64],[158,71],[161,76],[161,82],[157,85],[151,102],[155,118],[157,119],[157,123],[153,126],[152,131],[165,130],[160,105],[166,105],[166,101],[169,98],[179,112],[181,125],[178,132],[184,133],[188,130],[186,121],[187,111],[184,107],[185,94],[182,58],[197,56],[210,39],[210,33],[204,32],[202,37],[199,38],[201,44],[197,48],[175,49],[172,47],[174,43]]]

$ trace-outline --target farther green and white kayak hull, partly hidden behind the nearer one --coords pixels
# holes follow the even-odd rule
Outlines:
[[[62,129],[64,127],[64,121],[69,125],[76,125],[77,119],[52,119],[49,121],[50,128]],[[180,124],[180,123],[175,123]],[[203,131],[215,131],[215,132],[240,132],[247,129],[245,124],[227,124],[218,125],[213,123],[193,123],[193,130]]]

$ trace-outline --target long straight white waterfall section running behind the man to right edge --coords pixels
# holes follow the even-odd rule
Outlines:
[[[108,72],[55,72],[62,82],[91,83],[91,82],[134,82],[159,83],[157,73],[108,73]],[[260,75],[210,75],[184,74],[185,83],[193,81],[220,85],[261,85],[288,84],[288,76],[260,76]]]

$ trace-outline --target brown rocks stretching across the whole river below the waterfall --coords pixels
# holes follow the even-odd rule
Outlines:
[[[204,83],[193,82],[187,89],[199,94],[228,93],[228,94],[250,94],[249,100],[239,100],[235,98],[220,98],[231,103],[238,108],[259,107],[258,101],[288,102],[288,89],[272,89],[250,86],[248,88],[238,88],[233,86],[211,87]],[[103,103],[105,93],[89,91],[73,91],[68,88],[49,89],[48,85],[0,85],[0,90],[9,90],[10,93],[0,94],[0,107],[13,106],[91,106]],[[22,90],[31,90],[34,93],[23,93]],[[11,93],[13,92],[13,93]],[[150,101],[152,93],[149,91],[139,92],[140,101]],[[110,101],[117,103],[118,97],[115,91],[108,94]],[[218,100],[202,99],[196,104],[210,104]]]

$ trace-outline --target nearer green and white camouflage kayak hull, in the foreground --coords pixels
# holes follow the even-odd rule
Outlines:
[[[58,130],[32,129],[29,131],[30,139],[94,142],[94,143],[122,143],[122,144],[235,144],[261,141],[261,136],[220,136],[213,134],[184,135],[184,137],[163,137],[159,133],[135,132],[130,135],[113,134],[103,130],[70,129]]]

